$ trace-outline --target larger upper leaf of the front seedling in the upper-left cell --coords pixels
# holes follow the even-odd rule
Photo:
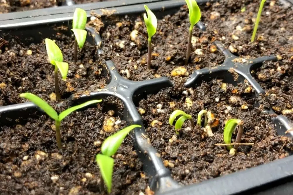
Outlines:
[[[63,62],[63,55],[58,45],[51,39],[45,39],[45,44],[50,63],[56,65],[54,61]]]

